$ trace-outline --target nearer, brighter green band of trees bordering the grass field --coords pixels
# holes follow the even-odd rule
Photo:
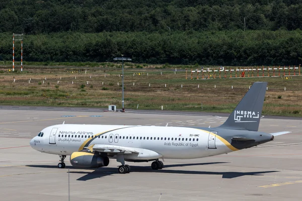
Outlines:
[[[12,60],[12,34],[0,34],[0,60]],[[201,65],[298,65],[302,31],[53,33],[24,37],[25,61],[112,61]],[[16,42],[20,60],[20,42]]]

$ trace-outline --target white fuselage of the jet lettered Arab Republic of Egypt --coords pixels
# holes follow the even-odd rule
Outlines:
[[[232,150],[218,134],[186,127],[121,125],[55,125],[41,131],[30,145],[41,152],[71,155],[91,145],[114,145],[151,150],[133,160],[153,158],[190,159],[228,153]],[[141,151],[140,151],[141,152]]]

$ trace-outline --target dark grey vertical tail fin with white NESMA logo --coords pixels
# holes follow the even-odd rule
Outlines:
[[[255,82],[219,128],[258,131],[267,82]]]

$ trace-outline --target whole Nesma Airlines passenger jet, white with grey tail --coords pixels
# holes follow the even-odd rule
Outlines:
[[[43,129],[30,141],[42,153],[57,154],[58,168],[64,159],[76,168],[108,166],[109,158],[121,165],[119,173],[129,173],[128,162],[148,162],[162,169],[159,159],[192,159],[225,154],[254,147],[290,133],[258,132],[267,82],[255,82],[241,102],[215,128],[61,124]]]

